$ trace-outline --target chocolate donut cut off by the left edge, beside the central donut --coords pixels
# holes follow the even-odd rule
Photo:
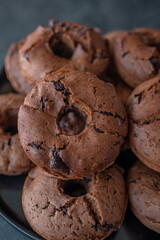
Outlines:
[[[20,94],[0,95],[0,174],[19,175],[33,165],[24,153],[16,130],[23,100]]]

